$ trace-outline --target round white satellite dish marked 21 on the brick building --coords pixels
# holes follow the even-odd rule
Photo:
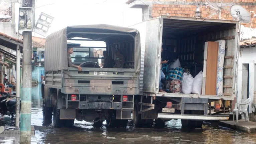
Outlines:
[[[242,21],[243,23],[251,22],[250,13],[240,5],[233,5],[230,7],[230,13],[235,20]]]

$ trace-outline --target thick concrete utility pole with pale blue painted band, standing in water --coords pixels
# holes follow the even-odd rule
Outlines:
[[[22,7],[32,7],[32,0],[22,0]],[[20,144],[30,144],[31,142],[31,96],[32,96],[31,55],[32,55],[32,32],[23,31]]]

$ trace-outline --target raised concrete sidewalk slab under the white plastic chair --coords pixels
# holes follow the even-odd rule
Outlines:
[[[251,121],[246,122],[244,119],[238,120],[238,123],[236,121],[219,121],[219,124],[223,127],[243,131],[246,133],[256,132],[256,123]]]

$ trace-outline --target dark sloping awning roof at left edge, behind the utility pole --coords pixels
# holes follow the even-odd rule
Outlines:
[[[17,50],[17,45],[20,46],[20,52],[22,53],[23,41],[15,37],[8,36],[0,32],[0,45],[10,48],[12,50]]]

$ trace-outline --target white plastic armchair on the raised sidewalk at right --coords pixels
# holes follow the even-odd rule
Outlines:
[[[249,115],[248,115],[248,106],[251,102],[251,98],[248,98],[242,103],[236,103],[235,109],[233,110],[233,121],[235,121],[235,113],[236,113],[236,122],[238,123],[238,115],[239,112],[242,112],[244,114],[244,119],[246,122],[249,122]],[[245,106],[244,109],[242,109],[242,106]]]

